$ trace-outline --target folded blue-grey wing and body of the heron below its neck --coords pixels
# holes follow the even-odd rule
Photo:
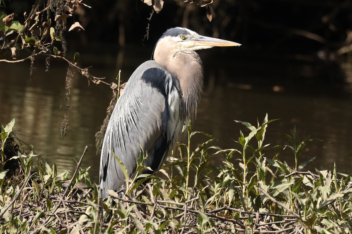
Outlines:
[[[180,111],[181,94],[175,76],[155,61],[140,65],[128,80],[107,126],[100,162],[101,188],[116,190],[124,184],[124,173],[113,153],[129,176],[136,172],[140,147],[148,153],[144,165],[152,169],[149,173],[158,170],[181,131]]]

